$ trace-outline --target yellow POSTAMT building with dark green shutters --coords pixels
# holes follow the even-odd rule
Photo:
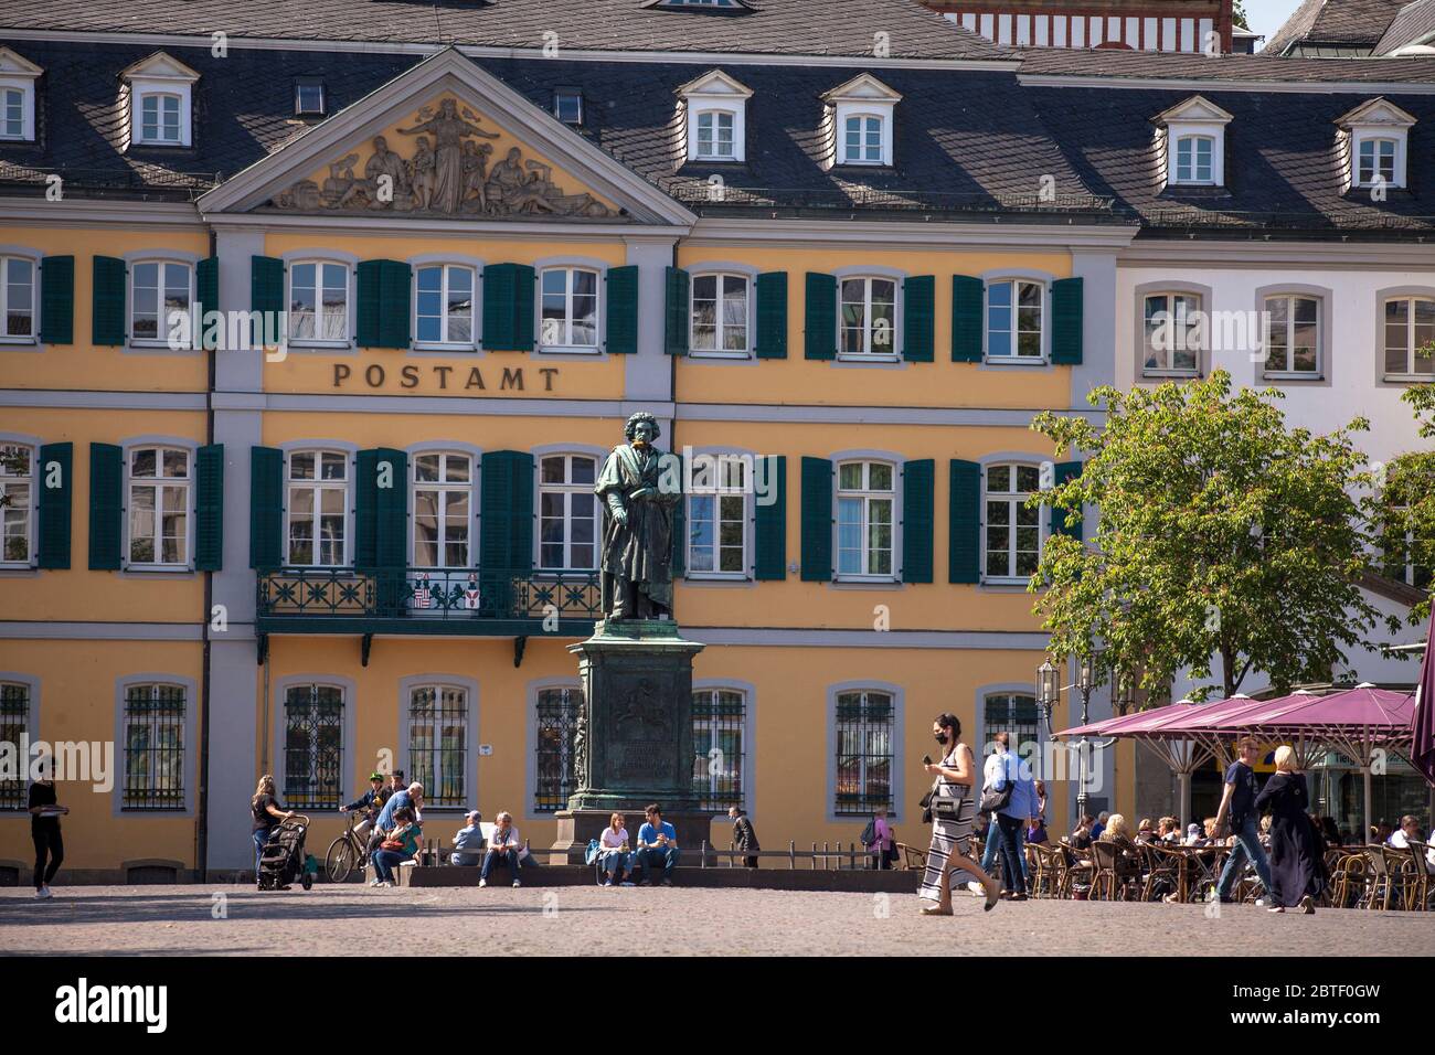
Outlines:
[[[56,167],[47,200],[36,161],[0,200],[4,728],[113,749],[112,787],[60,785],[66,874],[245,870],[265,772],[311,851],[390,768],[428,785],[429,835],[509,810],[551,844],[593,481],[636,411],[690,469],[738,456],[725,488],[690,481],[674,554],[715,818],[684,845],[726,847],[735,802],[768,848],[852,843],[877,807],[924,844],[937,713],[979,751],[1043,739],[1026,577],[1081,527],[1026,507],[1078,468],[1029,422],[1112,380],[1134,227],[1039,198],[1063,162],[1020,131],[964,169],[1000,194],[865,192],[933,141],[966,149],[928,89],[1019,95],[956,33],[973,53],[789,69],[7,40],[40,70],[36,149],[116,90],[115,158],[178,174],[99,194]],[[666,118],[626,115],[633,92]],[[779,136],[799,111],[818,139]],[[177,191],[221,141],[221,177]],[[791,200],[752,175],[781,151],[811,168]],[[24,778],[3,787],[0,867],[23,874]],[[1068,802],[1053,781],[1053,828]]]

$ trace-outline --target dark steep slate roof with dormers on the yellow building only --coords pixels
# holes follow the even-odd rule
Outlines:
[[[306,128],[290,116],[294,76],[321,75],[330,113],[336,113],[420,62],[420,56],[240,47],[215,59],[208,49],[168,47],[168,55],[201,75],[194,89],[194,148],[132,146],[121,154],[118,75],[152,52],[141,44],[24,42],[22,53],[46,69],[40,141],[0,144],[0,181],[24,179],[27,172],[37,181],[53,169],[76,188],[207,189]],[[555,88],[581,86],[583,135],[684,204],[707,211],[718,210],[707,185],[716,171],[728,184],[729,207],[762,204],[768,211],[1026,208],[1040,205],[1039,179],[1050,174],[1063,197],[1046,211],[1109,212],[1082,191],[1012,72],[875,70],[904,96],[894,129],[897,165],[824,171],[819,96],[864,72],[862,66],[733,66],[733,76],[753,89],[748,162],[696,165],[680,164],[676,89],[705,66],[528,57],[475,62],[542,109],[551,108]]]

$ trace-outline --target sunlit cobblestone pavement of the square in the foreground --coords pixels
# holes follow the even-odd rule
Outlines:
[[[917,907],[916,896],[776,890],[56,887],[34,901],[22,887],[0,890],[0,955],[367,955],[375,934],[405,922],[428,955],[580,956],[631,934],[649,953],[706,956],[1435,956],[1435,913],[1223,906],[1210,919],[1203,906],[1026,901],[986,914],[966,894],[950,919]]]

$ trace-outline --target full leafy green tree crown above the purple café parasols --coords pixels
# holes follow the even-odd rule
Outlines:
[[[1329,435],[1287,428],[1279,392],[1207,380],[1124,393],[1102,388],[1098,428],[1038,415],[1056,452],[1081,454],[1079,477],[1032,501],[1079,517],[1099,510],[1091,544],[1053,534],[1029,589],[1055,655],[1099,647],[1104,676],[1148,692],[1181,669],[1234,695],[1251,670],[1277,688],[1323,680],[1363,643],[1376,609],[1359,580],[1369,533],[1356,497],[1370,484],[1352,442],[1368,422]]]

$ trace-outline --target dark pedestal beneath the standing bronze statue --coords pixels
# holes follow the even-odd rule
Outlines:
[[[712,820],[693,794],[693,656],[702,649],[670,619],[600,620],[593,637],[568,647],[583,680],[577,791],[558,814],[554,851],[581,860],[614,811],[636,840],[643,808],[657,802],[696,860]]]

